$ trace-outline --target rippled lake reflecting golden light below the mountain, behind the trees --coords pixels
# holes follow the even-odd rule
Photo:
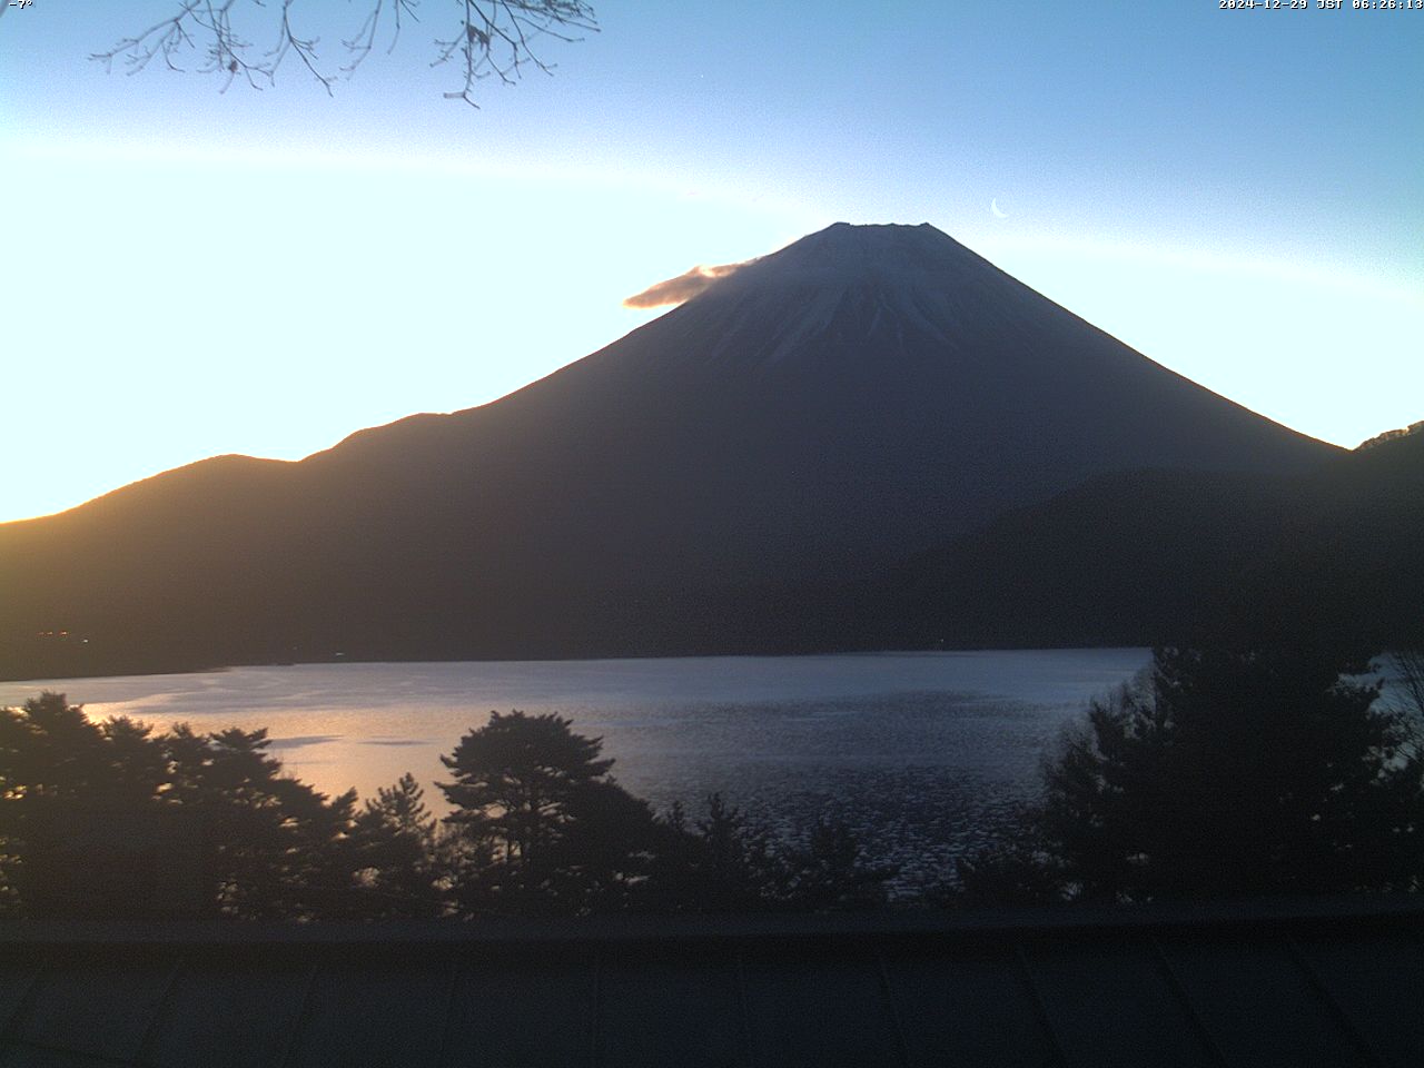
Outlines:
[[[373,796],[409,770],[436,809],[440,755],[491,709],[558,712],[601,736],[614,775],[655,807],[682,799],[696,813],[721,790],[780,834],[844,819],[909,889],[1030,797],[1064,726],[1149,659],[1049,649],[313,664],[0,682],[0,705],[54,689],[97,718],[268,728],[288,772],[325,792]]]

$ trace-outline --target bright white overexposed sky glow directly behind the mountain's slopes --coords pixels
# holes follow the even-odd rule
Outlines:
[[[34,356],[11,383],[66,397],[84,433],[11,466],[4,518],[204,456],[295,460],[365,426],[493,400],[656,313],[624,309],[628,293],[834,221],[628,175],[581,179],[597,188],[591,216],[564,199],[560,175],[383,152],[61,142],[14,157],[66,209],[11,228],[38,276],[61,279],[11,315]],[[98,195],[85,178],[97,165]],[[275,184],[279,211],[252,198]],[[380,204],[394,222],[372,216]],[[134,236],[95,242],[115,218],[140,221]],[[214,219],[212,241],[154,239],[174,218]],[[1321,389],[1346,352],[1377,379],[1418,382],[1404,339],[1424,335],[1424,298],[1407,281],[1045,236],[1031,222],[1005,234],[928,221],[1159,363],[1304,433],[1353,446],[1418,416],[1408,389],[1370,390],[1368,404]],[[90,252],[75,261],[74,246]]]

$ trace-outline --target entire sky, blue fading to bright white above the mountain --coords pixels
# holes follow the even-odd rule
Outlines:
[[[607,0],[480,110],[449,0],[332,97],[88,60],[177,0],[6,7],[0,520],[493,400],[836,221],[931,222],[1304,433],[1424,419],[1424,10],[1310,1]],[[329,67],[366,3],[293,6]]]

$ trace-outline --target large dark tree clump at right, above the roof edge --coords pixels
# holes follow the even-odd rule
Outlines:
[[[1045,768],[1040,852],[1099,900],[1418,890],[1424,759],[1321,648],[1159,649]]]

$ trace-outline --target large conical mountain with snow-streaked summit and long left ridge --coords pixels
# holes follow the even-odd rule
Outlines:
[[[746,651],[1084,480],[1337,451],[933,226],[836,224],[490,404],[0,525],[0,672]]]

